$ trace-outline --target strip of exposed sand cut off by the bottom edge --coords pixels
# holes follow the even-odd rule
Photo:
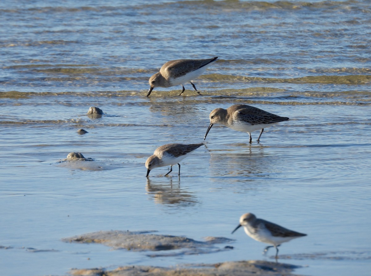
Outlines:
[[[122,266],[114,270],[73,269],[73,276],[281,276],[295,275],[298,266],[266,261],[224,262],[212,265],[184,265],[181,267]]]

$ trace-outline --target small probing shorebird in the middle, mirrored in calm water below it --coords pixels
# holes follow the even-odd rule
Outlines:
[[[170,171],[165,174],[170,174],[173,171],[173,165],[178,164],[180,175],[180,164],[179,162],[182,161],[185,157],[187,157],[192,151],[196,148],[202,146],[203,143],[200,144],[166,144],[161,147],[158,147],[153,155],[148,157],[147,161],[145,161],[145,167],[147,168],[147,175],[150,174],[150,171],[157,167],[164,167],[170,165]]]

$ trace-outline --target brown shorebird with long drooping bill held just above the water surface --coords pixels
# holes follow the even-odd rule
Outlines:
[[[262,129],[259,138],[257,138],[257,142],[259,142],[264,128],[288,119],[289,118],[287,117],[281,117],[250,105],[237,104],[232,105],[227,109],[216,108],[210,113],[210,125],[209,128],[207,128],[204,140],[206,139],[211,127],[214,124],[219,123],[234,130],[249,133],[250,144],[252,141],[251,132],[257,129]]]

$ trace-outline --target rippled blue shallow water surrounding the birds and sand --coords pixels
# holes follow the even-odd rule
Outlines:
[[[251,212],[308,234],[280,247],[304,266],[295,273],[369,275],[370,13],[369,1],[1,1],[2,273],[271,260],[230,234]],[[194,81],[202,95],[145,97],[164,62],[213,56]],[[252,145],[215,125],[180,178],[166,167],[145,178],[155,148],[202,142],[211,110],[236,103],[290,120]],[[89,118],[90,106],[105,114]],[[98,166],[59,163],[72,151]],[[111,229],[236,242],[148,257],[61,241]]]

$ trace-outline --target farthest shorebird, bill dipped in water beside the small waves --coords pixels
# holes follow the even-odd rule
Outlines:
[[[181,85],[183,90],[179,95],[184,92],[184,84],[190,82],[194,90],[197,91],[196,86],[192,80],[201,76],[211,62],[217,60],[218,57],[211,59],[177,59],[170,60],[162,65],[160,72],[155,73],[150,78],[150,90],[148,90],[147,97],[151,94],[155,87],[170,87]],[[197,91],[198,94],[200,92]]]

